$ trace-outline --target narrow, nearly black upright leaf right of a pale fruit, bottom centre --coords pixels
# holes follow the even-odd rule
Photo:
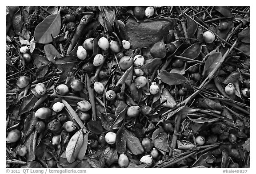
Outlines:
[[[124,127],[121,127],[116,132],[116,151],[119,154],[123,154],[126,151],[126,141],[127,141],[127,133],[124,130]]]

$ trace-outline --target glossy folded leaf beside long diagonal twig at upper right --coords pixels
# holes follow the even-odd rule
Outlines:
[[[209,55],[207,61],[204,64],[203,77],[207,77],[209,73],[217,66],[221,59],[221,53],[213,53]]]

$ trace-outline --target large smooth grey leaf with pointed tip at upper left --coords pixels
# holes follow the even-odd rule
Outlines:
[[[35,40],[37,43],[50,43],[52,37],[56,37],[60,32],[60,10],[55,15],[48,15],[36,26]]]

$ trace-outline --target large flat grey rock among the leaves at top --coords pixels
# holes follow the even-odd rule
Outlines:
[[[126,23],[128,38],[132,49],[152,46],[173,30],[175,19],[156,19],[149,22],[136,22],[129,18]]]

